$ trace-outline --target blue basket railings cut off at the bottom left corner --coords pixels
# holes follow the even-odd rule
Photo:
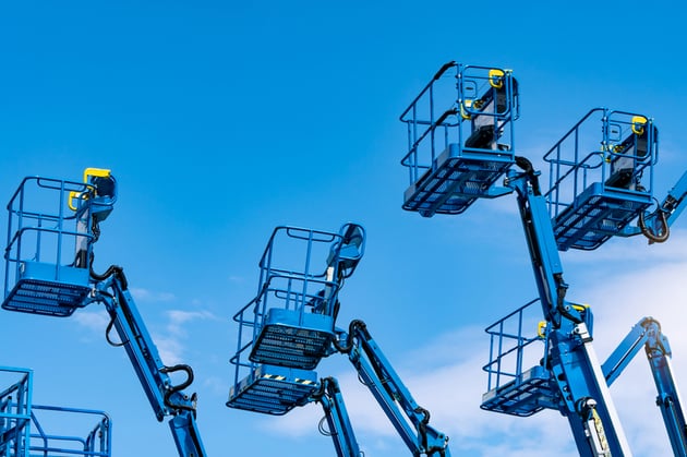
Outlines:
[[[110,457],[111,422],[105,412],[33,405],[31,370],[0,366],[0,376],[2,381],[11,380],[0,393],[0,455]],[[69,434],[47,433],[46,425],[49,430],[68,430]],[[87,426],[88,431],[73,435],[75,425]]]

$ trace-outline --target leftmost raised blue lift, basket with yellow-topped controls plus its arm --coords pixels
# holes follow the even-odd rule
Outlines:
[[[123,269],[93,270],[93,245],[99,224],[117,201],[117,181],[109,170],[88,168],[83,182],[29,177],[10,200],[5,248],[4,301],[8,311],[68,317],[103,303],[110,315],[108,342],[126,351],[158,421],[169,425],[181,457],[206,456],[195,421],[195,394],[190,366],[162,363],[145,327]],[[119,339],[111,338],[116,329]],[[181,384],[170,373],[184,373]]]

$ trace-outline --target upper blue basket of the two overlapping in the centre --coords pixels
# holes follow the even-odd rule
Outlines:
[[[349,227],[359,226],[345,225],[340,233],[274,230],[260,261],[257,297],[233,317],[252,340],[251,361],[312,370],[328,354],[341,275],[362,256],[362,231],[347,240]],[[327,264],[320,269],[315,258]]]

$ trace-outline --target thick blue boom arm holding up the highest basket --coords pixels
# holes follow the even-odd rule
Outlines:
[[[581,456],[631,456],[608,386],[591,345],[591,312],[565,300],[567,285],[546,202],[532,164],[516,157],[521,172],[510,170],[506,185],[517,192],[544,316],[549,322],[545,354],[552,381],[561,392]]]

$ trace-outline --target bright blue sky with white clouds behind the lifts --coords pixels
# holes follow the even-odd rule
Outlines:
[[[598,106],[644,112],[661,131],[660,197],[687,169],[680,2],[63,1],[0,7],[0,201],[25,176],[110,168],[114,212],[96,268],[122,265],[166,362],[196,372],[213,456],[334,455],[311,405],[284,418],[225,407],[237,328],[272,229],[365,226],[340,323],[364,320],[454,455],[575,455],[556,412],[479,409],[483,328],[534,297],[515,199],[457,217],[401,208],[398,116],[446,61],[514,70],[519,154],[538,163]],[[4,195],[4,197],[3,197]],[[0,218],[0,230],[7,227]],[[653,315],[687,380],[687,226],[665,245],[614,240],[563,255],[572,301],[595,312],[603,360]],[[2,312],[0,364],[35,370],[41,404],[108,411],[116,456],[174,455],[96,306],[69,320]],[[367,457],[406,454],[342,358],[340,378]],[[636,455],[668,454],[652,381],[637,361],[612,387]]]

